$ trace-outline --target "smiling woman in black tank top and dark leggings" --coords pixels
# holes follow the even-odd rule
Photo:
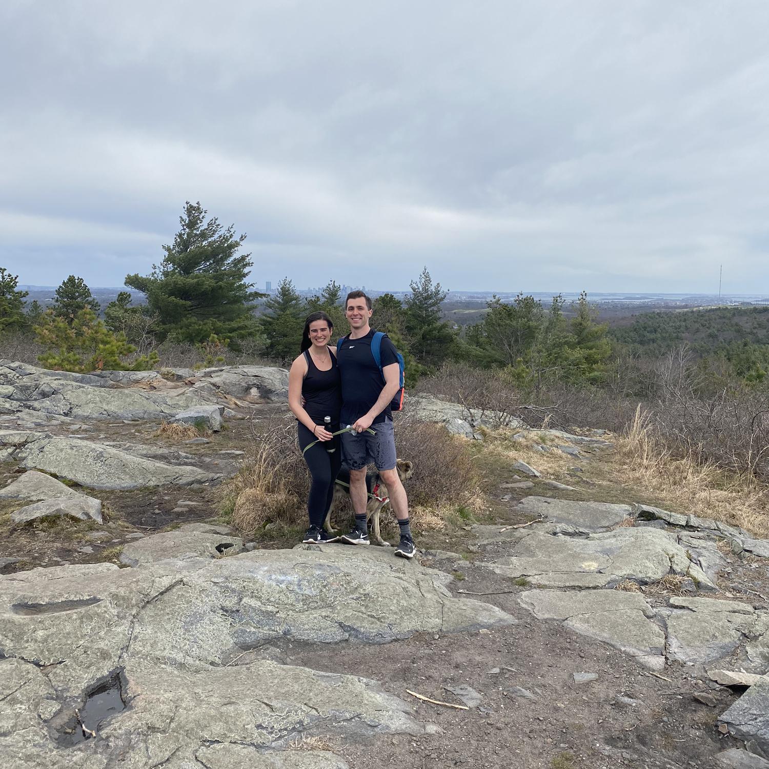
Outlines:
[[[299,447],[304,451],[318,441],[305,451],[312,484],[307,503],[310,528],[303,542],[338,540],[323,530],[341,466],[339,436],[332,434],[339,429],[341,411],[339,369],[328,346],[333,331],[334,324],[325,312],[309,315],[301,335],[301,355],[288,373],[288,406],[299,422]]]

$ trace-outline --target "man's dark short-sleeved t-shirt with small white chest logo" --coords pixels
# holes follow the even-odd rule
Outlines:
[[[371,353],[373,329],[365,337],[345,339],[339,348],[337,363],[341,374],[341,424],[354,424],[373,406],[379,398],[384,379]],[[382,368],[391,363],[398,363],[398,353],[389,337],[383,337],[380,348]],[[372,424],[383,422],[392,417],[387,408],[375,417]]]

